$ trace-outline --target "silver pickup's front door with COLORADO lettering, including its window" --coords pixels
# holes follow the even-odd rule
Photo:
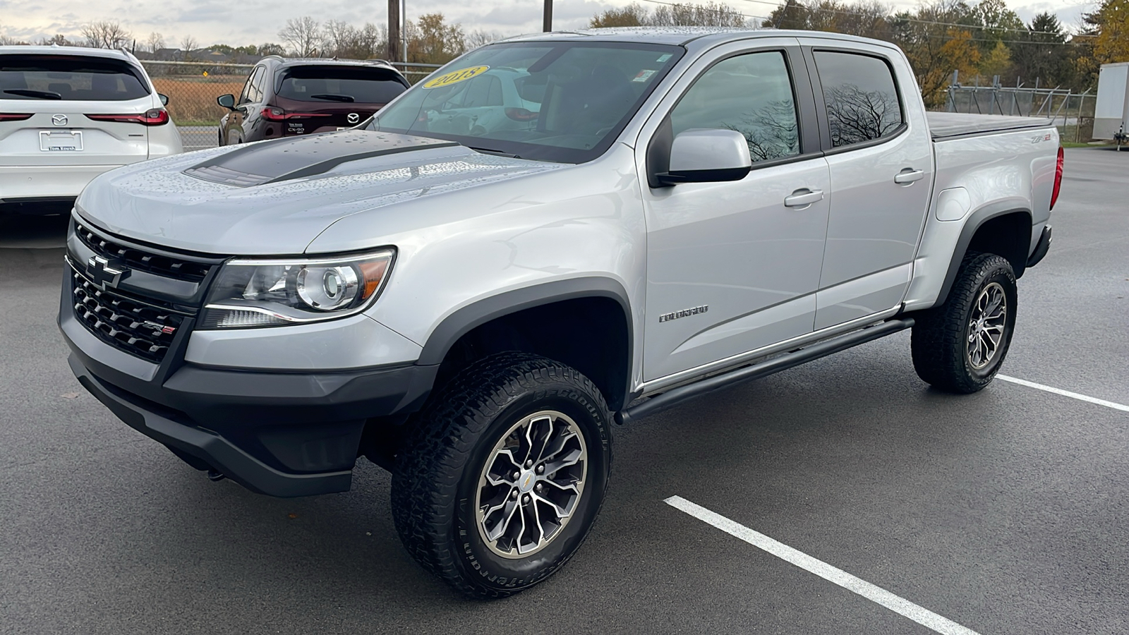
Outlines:
[[[669,111],[671,138],[737,130],[753,169],[727,183],[645,184],[645,381],[813,329],[831,190],[822,156],[800,153],[809,143],[790,71],[803,60],[785,47],[728,55],[701,61],[707,68]]]

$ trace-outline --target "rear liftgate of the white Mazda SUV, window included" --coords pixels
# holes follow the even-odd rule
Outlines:
[[[82,55],[0,55],[0,165],[126,165],[148,127],[112,121],[159,106],[140,70]]]

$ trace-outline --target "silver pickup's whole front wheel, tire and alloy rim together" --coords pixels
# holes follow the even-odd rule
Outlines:
[[[549,577],[599,513],[610,421],[592,382],[557,362],[502,354],[470,366],[396,455],[392,512],[404,547],[475,598]]]

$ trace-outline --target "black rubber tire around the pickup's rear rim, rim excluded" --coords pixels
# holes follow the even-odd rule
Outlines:
[[[982,368],[970,360],[973,305],[992,284],[1006,298],[1004,333],[998,350]],[[917,318],[910,337],[913,368],[938,390],[970,394],[991,383],[999,372],[1015,330],[1016,285],[1012,264],[994,253],[970,253],[961,262],[945,303]]]

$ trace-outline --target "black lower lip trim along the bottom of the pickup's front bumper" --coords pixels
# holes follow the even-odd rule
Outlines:
[[[310,496],[345,492],[352,484],[352,470],[296,475],[277,470],[247,454],[222,436],[194,428],[148,409],[114,393],[70,356],[70,366],[79,383],[133,429],[195,456],[252,492],[271,496]]]

